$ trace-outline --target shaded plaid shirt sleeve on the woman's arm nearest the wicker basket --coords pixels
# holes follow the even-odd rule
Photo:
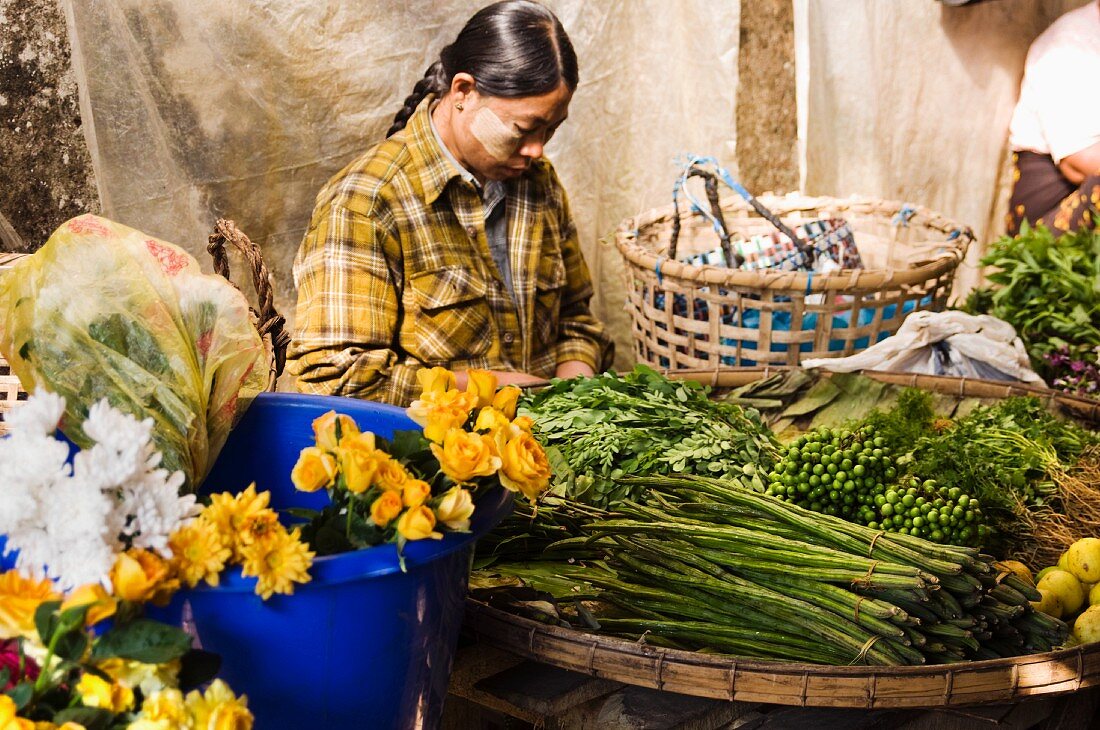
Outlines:
[[[561,256],[565,265],[565,286],[561,297],[561,329],[554,350],[554,361],[564,363],[575,360],[585,363],[596,373],[612,366],[615,360],[615,344],[603,323],[592,314],[588,302],[592,299],[592,277],[581,253],[581,239],[573,222],[569,199],[561,188],[557,173],[553,181],[561,195]]]

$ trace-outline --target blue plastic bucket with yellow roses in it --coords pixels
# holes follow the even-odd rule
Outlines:
[[[290,560],[300,552],[273,551],[185,591],[200,643],[222,656],[260,727],[438,722],[473,541],[514,493],[535,499],[549,484],[530,421],[516,417],[518,388],[497,390],[487,373],[465,390],[442,368],[419,377],[407,411],[261,394],[211,471],[207,488],[235,502],[220,521],[242,557],[271,527],[245,498],[253,483],[258,506],[316,553],[301,575]]]

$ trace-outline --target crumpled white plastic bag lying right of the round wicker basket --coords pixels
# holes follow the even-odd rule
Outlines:
[[[1042,385],[1011,324],[988,314],[920,311],[898,332],[848,357],[814,357],[803,367],[833,373],[887,370]]]

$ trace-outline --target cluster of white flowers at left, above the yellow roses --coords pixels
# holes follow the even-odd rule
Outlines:
[[[95,403],[84,431],[95,443],[67,464],[68,445],[48,434],[63,398],[35,394],[0,440],[0,534],[19,550],[18,567],[47,574],[58,587],[108,580],[128,548],[170,556],[168,535],[198,512],[179,496],[182,472],[158,468],[153,421],[138,421],[107,400]],[[55,418],[56,416],[56,418]]]

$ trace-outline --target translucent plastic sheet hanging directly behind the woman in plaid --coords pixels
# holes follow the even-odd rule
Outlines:
[[[261,244],[276,305],[323,182],[380,141],[482,0],[63,0],[103,214],[206,262],[216,218]],[[630,360],[617,254],[598,240],[670,201],[673,157],[734,162],[737,0],[551,0],[581,87],[550,145]]]

